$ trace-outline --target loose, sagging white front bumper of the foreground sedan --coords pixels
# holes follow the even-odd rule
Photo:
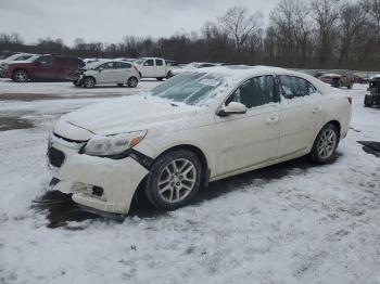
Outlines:
[[[65,156],[59,168],[48,159],[53,177],[60,180],[54,190],[72,193],[75,203],[101,211],[129,211],[134,193],[149,172],[143,166],[130,157],[115,160],[78,154],[77,149],[56,141],[51,146]]]

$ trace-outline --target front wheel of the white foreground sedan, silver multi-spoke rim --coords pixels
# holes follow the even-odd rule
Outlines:
[[[188,150],[163,154],[152,165],[145,194],[157,209],[173,210],[189,204],[201,186],[202,165]]]

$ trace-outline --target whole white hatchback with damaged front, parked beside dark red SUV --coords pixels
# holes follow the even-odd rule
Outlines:
[[[116,83],[119,87],[127,85],[135,88],[139,83],[139,72],[134,64],[110,60],[92,63],[81,68],[73,82],[77,87],[86,88],[107,83]]]

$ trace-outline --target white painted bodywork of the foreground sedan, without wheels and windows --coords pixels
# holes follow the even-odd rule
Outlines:
[[[127,214],[150,163],[174,147],[187,147],[202,156],[207,175],[204,183],[308,154],[320,129],[332,121],[343,139],[351,121],[351,101],[318,79],[274,67],[213,67],[195,74],[217,74],[225,81],[215,95],[199,105],[170,103],[147,94],[116,99],[63,116],[54,126],[48,164],[60,180],[55,189],[73,193],[73,201],[94,209]],[[278,76],[307,80],[312,94],[284,99],[249,108],[245,114],[218,115],[237,88],[251,78]],[[165,83],[175,80],[174,77]],[[282,77],[281,77],[282,78]],[[284,78],[284,77],[283,77]],[[288,77],[287,77],[288,78]],[[203,80],[212,86],[212,80]],[[160,86],[157,87],[160,88]],[[239,89],[240,90],[240,89]],[[240,95],[240,91],[239,91]],[[229,100],[229,99],[228,99]],[[125,158],[80,154],[96,137],[143,132],[143,139]],[[56,157],[61,160],[56,164]],[[63,158],[62,158],[63,155]],[[93,186],[104,190],[102,196]]]

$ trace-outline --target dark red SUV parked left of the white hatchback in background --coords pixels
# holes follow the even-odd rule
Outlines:
[[[4,70],[4,77],[16,82],[28,80],[74,80],[83,61],[75,57],[40,55],[30,62],[12,63]]]

